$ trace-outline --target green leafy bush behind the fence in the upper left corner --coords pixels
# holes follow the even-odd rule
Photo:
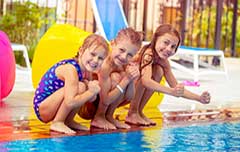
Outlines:
[[[25,44],[32,59],[36,44],[41,35],[40,29],[45,24],[53,23],[53,19],[45,18],[46,13],[53,10],[41,8],[32,2],[13,2],[12,9],[8,10],[0,19],[0,30],[7,33],[11,42]],[[15,54],[16,61],[23,64],[24,60]]]

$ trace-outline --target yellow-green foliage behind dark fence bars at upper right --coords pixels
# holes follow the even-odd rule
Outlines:
[[[228,14],[226,15],[226,12]],[[209,14],[211,16],[209,22]],[[231,48],[232,36],[232,18],[233,11],[227,10],[227,6],[223,6],[223,14],[221,19],[221,46],[220,49],[229,51]],[[194,11],[194,15],[187,20],[188,32],[186,34],[185,44],[214,48],[216,24],[216,6],[204,8],[202,12]],[[237,27],[240,27],[240,18],[237,21]],[[239,28],[237,28],[239,30]],[[192,43],[191,43],[192,42]],[[206,44],[208,43],[208,46]],[[240,56],[240,32],[236,33],[236,53]]]

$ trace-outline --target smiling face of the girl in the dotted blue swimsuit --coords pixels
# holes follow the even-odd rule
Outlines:
[[[83,52],[81,56],[82,65],[87,71],[97,72],[103,60],[106,58],[106,55],[107,52],[103,46],[92,46]]]

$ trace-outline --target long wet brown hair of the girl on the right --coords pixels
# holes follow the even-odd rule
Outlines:
[[[158,26],[158,28],[156,29],[155,33],[153,34],[153,38],[152,38],[151,42],[149,44],[145,45],[140,50],[140,64],[139,64],[140,74],[141,74],[142,69],[144,67],[148,66],[149,64],[151,64],[153,62],[154,56],[157,55],[156,50],[155,50],[155,45],[156,45],[157,39],[160,36],[163,36],[166,33],[174,35],[174,36],[176,36],[179,39],[177,47],[175,49],[175,52],[177,51],[177,49],[178,49],[178,47],[180,45],[180,41],[181,41],[181,37],[180,37],[179,32],[175,28],[173,28],[172,25],[170,25],[170,24],[162,24],[162,25]],[[148,48],[151,48],[152,54],[144,54]],[[144,59],[145,55],[150,56],[151,59],[146,64],[142,65],[142,60]]]

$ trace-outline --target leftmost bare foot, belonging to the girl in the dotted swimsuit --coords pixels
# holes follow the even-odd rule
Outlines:
[[[76,132],[66,126],[63,122],[52,122],[50,130],[65,134],[75,134]]]

